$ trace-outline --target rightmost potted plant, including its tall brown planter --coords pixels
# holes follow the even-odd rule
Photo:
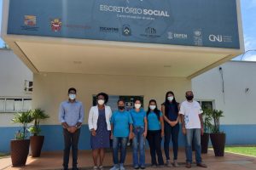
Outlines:
[[[219,131],[219,119],[222,116],[224,116],[223,111],[218,111],[218,110],[212,111],[212,119],[214,124],[212,127],[212,133],[210,134],[210,138],[212,141],[212,147],[213,147],[215,156],[224,156],[226,134]]]

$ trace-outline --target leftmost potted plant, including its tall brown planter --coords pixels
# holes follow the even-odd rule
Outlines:
[[[24,111],[16,113],[12,119],[15,123],[22,125],[22,130],[15,134],[15,139],[11,140],[11,160],[14,167],[26,165],[26,158],[28,156],[30,140],[27,137],[27,124],[32,122],[31,111]]]

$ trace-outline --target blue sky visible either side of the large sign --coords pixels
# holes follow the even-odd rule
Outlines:
[[[214,1],[214,0],[212,0]],[[2,23],[2,3],[0,0],[0,22]],[[241,19],[246,54],[242,60],[256,61],[256,0],[241,0]],[[0,48],[3,47],[3,40],[0,40]],[[240,60],[241,56],[235,59]]]

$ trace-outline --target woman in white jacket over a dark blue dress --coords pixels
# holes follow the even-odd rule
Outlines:
[[[96,106],[90,108],[88,125],[90,130],[90,146],[94,161],[93,169],[103,169],[105,149],[110,148],[110,119],[111,108],[108,103],[108,94],[100,93],[96,95]],[[100,163],[98,164],[98,158]]]

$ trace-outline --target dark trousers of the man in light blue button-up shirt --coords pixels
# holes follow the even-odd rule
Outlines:
[[[70,147],[72,147],[73,167],[77,167],[80,129],[78,129],[75,133],[69,133],[66,128],[63,128],[63,136],[65,144],[63,167],[64,169],[68,167]]]

